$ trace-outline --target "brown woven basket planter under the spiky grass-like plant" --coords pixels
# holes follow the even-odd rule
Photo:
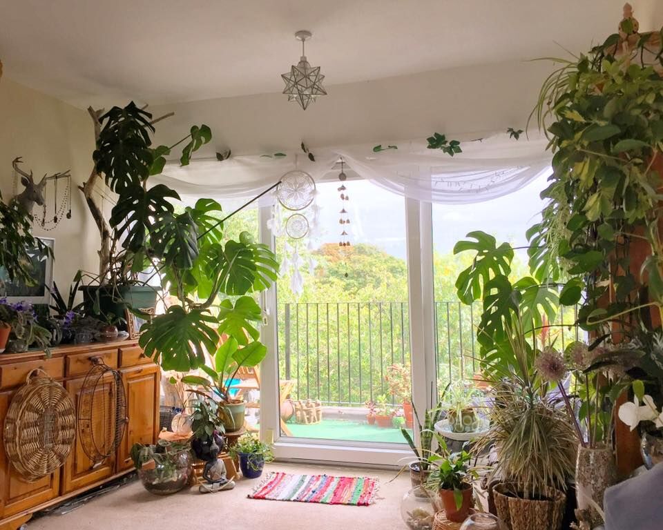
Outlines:
[[[511,487],[512,489],[512,487]],[[564,518],[566,495],[554,488],[540,493],[546,500],[528,500],[509,495],[509,484],[497,484],[493,489],[497,516],[511,530],[559,530]]]

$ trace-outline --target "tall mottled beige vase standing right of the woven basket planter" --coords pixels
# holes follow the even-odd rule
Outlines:
[[[593,502],[603,509],[603,494],[613,484],[617,484],[617,467],[612,449],[580,446],[575,464],[575,497],[578,508],[587,511],[593,527],[603,523]]]

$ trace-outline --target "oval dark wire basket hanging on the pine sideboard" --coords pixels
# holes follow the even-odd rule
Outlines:
[[[85,376],[78,403],[78,437],[88,458],[96,464],[115,453],[127,422],[122,376],[97,360]]]

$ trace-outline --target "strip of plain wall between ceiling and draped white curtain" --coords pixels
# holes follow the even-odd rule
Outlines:
[[[157,126],[157,141],[164,144],[180,139],[193,124],[208,124],[213,141],[202,156],[224,148],[236,155],[273,153],[298,148],[302,140],[313,148],[423,138],[435,131],[481,135],[524,128],[552,68],[545,62],[512,61],[329,86],[329,95],[306,111],[282,94],[150,110],[155,117],[175,112]]]

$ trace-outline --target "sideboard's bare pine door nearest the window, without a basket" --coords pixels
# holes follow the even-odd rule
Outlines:
[[[131,446],[153,444],[159,435],[161,373],[159,366],[136,366],[122,370],[128,424],[117,450],[117,471],[131,469]]]

